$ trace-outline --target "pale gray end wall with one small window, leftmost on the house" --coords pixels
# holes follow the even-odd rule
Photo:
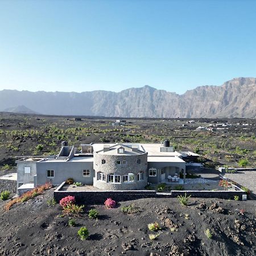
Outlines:
[[[17,161],[17,188],[19,184],[34,183],[36,161]],[[30,167],[30,174],[24,173],[24,167]]]

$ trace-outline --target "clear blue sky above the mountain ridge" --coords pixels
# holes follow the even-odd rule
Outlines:
[[[256,1],[0,1],[0,89],[184,93],[256,77]]]

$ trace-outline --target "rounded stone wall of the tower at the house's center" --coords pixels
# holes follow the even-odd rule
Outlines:
[[[139,155],[105,155],[94,152],[94,171],[95,177],[93,179],[94,187],[105,190],[129,190],[129,189],[142,189],[147,185],[147,153]],[[105,164],[102,164],[102,159],[106,160]],[[141,160],[141,163],[137,163],[137,159]],[[126,160],[126,164],[117,164],[116,161]],[[108,183],[97,180],[97,172],[102,172],[106,175],[115,174],[121,176],[121,183]],[[144,172],[144,180],[138,180],[138,173]],[[122,183],[122,175],[134,174],[133,182]],[[108,177],[106,177],[108,180]]]

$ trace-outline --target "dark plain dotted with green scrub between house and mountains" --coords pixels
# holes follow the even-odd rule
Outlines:
[[[10,170],[18,155],[54,155],[61,141],[79,148],[81,143],[160,143],[170,139],[176,150],[201,154],[206,167],[254,167],[255,119],[127,119],[126,126],[112,126],[113,118],[56,117],[2,113],[0,118],[0,169]],[[196,130],[199,126],[228,123],[222,130]],[[209,126],[209,127],[212,127]]]

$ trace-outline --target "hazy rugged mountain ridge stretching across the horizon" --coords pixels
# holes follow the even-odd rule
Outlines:
[[[23,112],[19,111],[20,106]],[[255,118],[256,79],[240,77],[221,86],[199,86],[182,95],[147,85],[118,93],[0,91],[1,111],[26,113],[26,109],[27,113],[55,115]]]

